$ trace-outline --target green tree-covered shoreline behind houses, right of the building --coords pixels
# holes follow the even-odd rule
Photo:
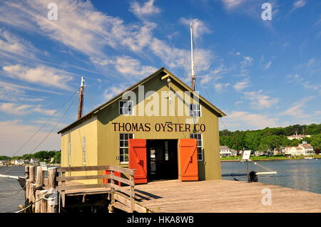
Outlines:
[[[252,151],[273,151],[280,147],[297,147],[302,143],[299,139],[287,139],[292,134],[309,134],[311,137],[305,137],[304,141],[310,143],[316,153],[321,149],[321,124],[312,125],[290,125],[288,127],[266,127],[264,130],[247,130],[230,132],[228,130],[220,131],[220,145],[227,146],[230,149],[242,150],[250,149]]]

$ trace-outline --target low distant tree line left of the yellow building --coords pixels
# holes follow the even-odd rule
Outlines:
[[[24,154],[22,156],[0,156],[0,160],[12,160],[12,159],[39,159],[40,162],[50,162],[52,158],[54,158],[54,162],[61,162],[61,151],[40,151],[34,154]]]

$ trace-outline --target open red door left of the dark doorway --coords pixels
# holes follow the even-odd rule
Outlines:
[[[146,139],[128,139],[129,169],[135,169],[135,184],[147,183]]]

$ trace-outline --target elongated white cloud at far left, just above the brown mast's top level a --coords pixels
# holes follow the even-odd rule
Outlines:
[[[9,77],[23,80],[28,83],[61,88],[64,90],[71,89],[67,84],[73,77],[71,76],[71,73],[67,73],[63,70],[57,70],[45,65],[39,65],[36,68],[29,68],[24,65],[6,65],[2,69]]]

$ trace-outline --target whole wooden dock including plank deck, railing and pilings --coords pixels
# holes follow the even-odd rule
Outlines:
[[[94,170],[108,173],[66,176],[68,171]],[[116,176],[117,173],[121,175]],[[228,180],[165,180],[135,185],[133,176],[133,169],[114,166],[59,167],[49,169],[49,178],[44,179],[41,167],[26,167],[26,208],[29,209],[24,211],[57,213],[61,209],[66,212],[66,208],[77,211],[84,206],[101,206],[103,212],[139,213],[321,212],[321,194],[282,186]],[[79,183],[84,179],[104,181],[103,184]],[[267,191],[270,200],[265,200]]]

